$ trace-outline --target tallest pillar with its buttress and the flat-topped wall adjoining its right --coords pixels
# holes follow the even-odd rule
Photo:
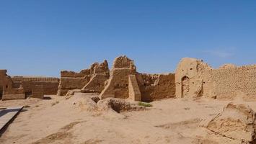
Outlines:
[[[151,102],[175,97],[175,74],[144,74],[136,71],[133,60],[125,55],[115,58],[110,78],[100,94],[107,97]]]

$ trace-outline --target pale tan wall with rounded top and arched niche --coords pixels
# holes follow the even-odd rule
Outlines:
[[[213,69],[202,60],[182,58],[175,72],[177,97],[255,99],[256,66],[225,64]]]

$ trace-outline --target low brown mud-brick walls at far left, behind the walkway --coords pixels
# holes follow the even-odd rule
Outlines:
[[[10,77],[6,73],[6,70],[0,70],[0,99],[43,99],[45,94],[56,94],[58,91],[58,78]]]

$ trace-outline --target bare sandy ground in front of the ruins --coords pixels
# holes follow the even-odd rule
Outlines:
[[[209,136],[204,125],[229,103],[213,99],[162,99],[143,111],[95,114],[76,96],[0,101],[25,105],[0,143],[237,143]]]

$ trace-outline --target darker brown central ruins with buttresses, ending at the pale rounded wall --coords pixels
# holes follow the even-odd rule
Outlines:
[[[94,63],[79,73],[61,71],[58,95],[74,94],[74,91],[96,92],[101,99],[112,97],[151,102],[175,97],[175,74],[138,73],[133,60],[122,55],[115,58],[111,71],[107,60]]]

